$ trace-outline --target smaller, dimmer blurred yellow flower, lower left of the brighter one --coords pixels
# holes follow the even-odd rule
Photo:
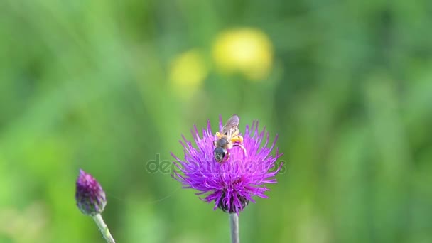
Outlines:
[[[174,58],[169,70],[171,87],[183,98],[189,98],[201,87],[208,69],[199,50],[188,50]]]

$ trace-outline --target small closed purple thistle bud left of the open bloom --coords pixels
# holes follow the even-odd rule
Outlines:
[[[102,186],[92,175],[85,173],[82,169],[77,179],[75,200],[81,212],[91,216],[101,213],[107,205]]]

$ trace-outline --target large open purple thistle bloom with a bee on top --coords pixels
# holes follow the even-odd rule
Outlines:
[[[220,117],[219,129],[222,129],[222,117]],[[276,154],[271,151],[276,144],[274,139],[270,148],[269,133],[258,130],[258,121],[252,126],[246,126],[244,141],[242,145],[246,148],[244,155],[242,148],[234,147],[229,150],[227,161],[218,163],[215,161],[213,141],[217,139],[212,132],[210,121],[207,121],[207,128],[202,129],[202,137],[194,126],[192,131],[196,147],[182,135],[183,141],[180,144],[184,148],[185,157],[180,159],[171,153],[176,162],[173,162],[176,169],[173,171],[173,178],[183,184],[183,188],[198,190],[197,195],[204,195],[200,198],[205,202],[215,202],[214,210],[218,207],[229,213],[241,212],[250,202],[255,202],[254,195],[260,198],[268,198],[264,193],[269,190],[267,183],[276,183],[274,176],[281,169],[282,164],[276,167],[276,160],[282,156],[276,148]],[[261,141],[265,137],[264,146]]]

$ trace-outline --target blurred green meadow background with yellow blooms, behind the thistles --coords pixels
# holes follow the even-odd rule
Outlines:
[[[390,4],[391,3],[391,4]],[[431,1],[0,2],[0,242],[229,242],[147,161],[219,114],[279,134],[242,242],[432,242]]]

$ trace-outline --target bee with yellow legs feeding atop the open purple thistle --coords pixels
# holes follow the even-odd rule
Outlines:
[[[217,162],[222,163],[227,161],[229,158],[229,150],[233,147],[242,148],[244,156],[246,156],[246,148],[242,145],[243,137],[239,135],[238,126],[239,117],[234,114],[228,119],[225,126],[215,134],[217,140],[213,141],[216,147],[213,153]]]

